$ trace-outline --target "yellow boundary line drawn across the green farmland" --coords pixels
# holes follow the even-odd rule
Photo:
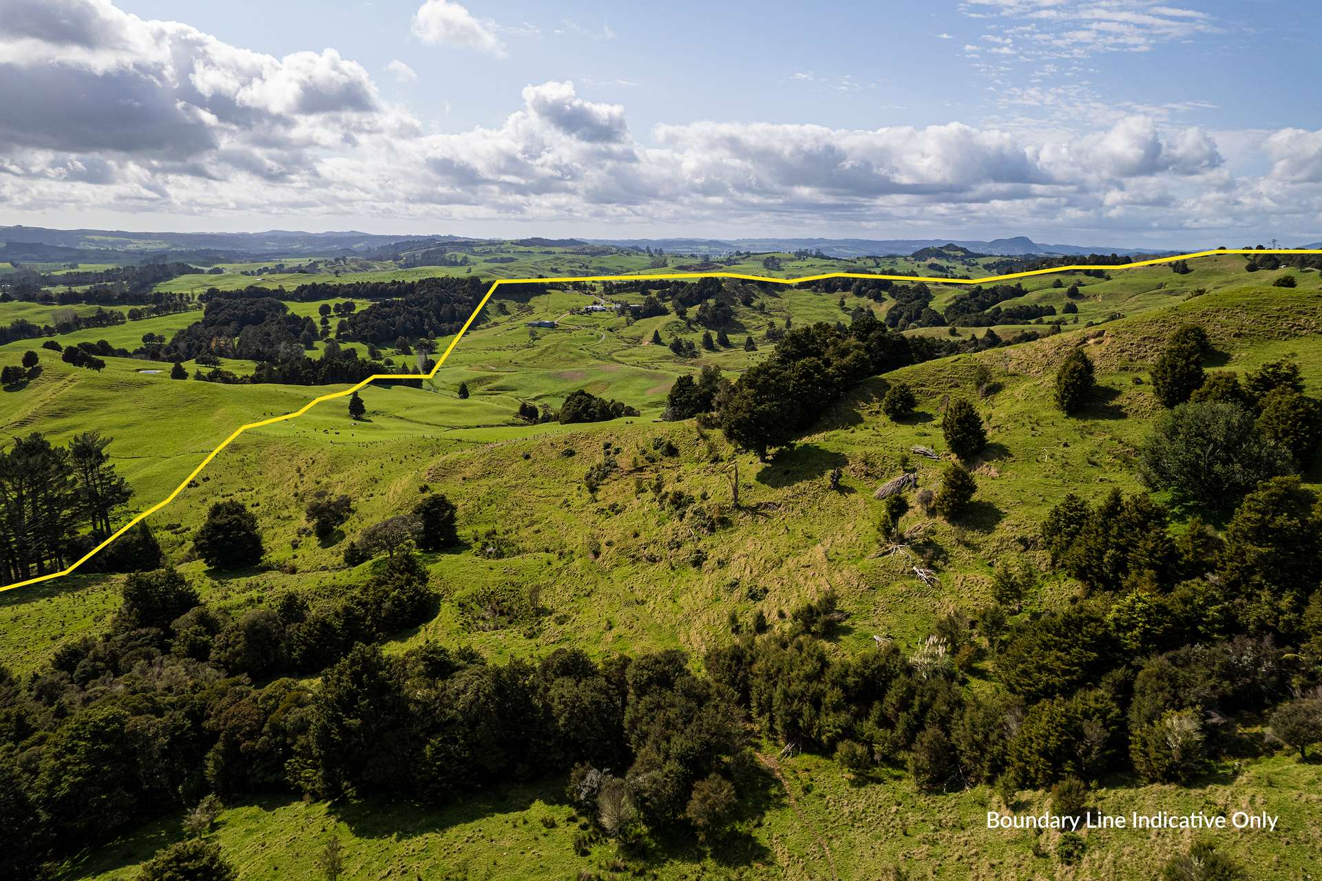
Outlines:
[[[167,505],[169,505],[171,502],[173,502],[175,498],[178,497],[178,494],[182,493],[188,487],[188,485],[193,481],[193,478],[196,478],[202,472],[202,469],[206,468],[212,462],[212,460],[215,458],[219,454],[219,452],[222,449],[225,449],[226,446],[229,446],[231,442],[234,442],[234,439],[237,439],[239,435],[242,435],[243,432],[246,432],[246,431],[249,431],[251,428],[262,428],[263,425],[272,425],[275,423],[283,423],[283,421],[286,421],[288,419],[295,419],[295,417],[301,416],[303,413],[308,412],[309,409],[312,409],[313,407],[316,407],[317,404],[320,404],[323,402],[334,400],[336,398],[348,398],[349,395],[352,395],[353,392],[358,391],[360,388],[365,388],[366,386],[370,386],[373,382],[398,380],[398,379],[431,379],[431,378],[434,378],[436,375],[436,371],[440,370],[442,365],[446,363],[446,359],[449,358],[449,353],[452,353],[455,350],[455,346],[459,345],[459,341],[464,338],[465,333],[468,333],[468,328],[472,326],[473,320],[477,318],[477,314],[486,305],[486,301],[490,300],[490,296],[493,293],[496,293],[496,289],[500,288],[502,284],[567,284],[567,283],[572,283],[572,281],[639,281],[640,279],[656,279],[656,280],[676,281],[676,280],[683,280],[683,279],[713,279],[713,277],[714,279],[739,279],[739,280],[743,280],[743,281],[767,281],[767,283],[772,283],[772,284],[800,284],[802,281],[821,281],[821,280],[825,280],[825,279],[873,279],[873,280],[887,280],[887,281],[931,281],[931,283],[940,283],[940,284],[992,284],[992,283],[997,283],[997,281],[1009,281],[1010,279],[1026,279],[1026,277],[1030,277],[1030,276],[1050,275],[1052,272],[1077,272],[1077,271],[1081,271],[1081,269],[1137,269],[1140,267],[1157,265],[1157,264],[1161,264],[1161,263],[1174,263],[1175,260],[1190,260],[1190,259],[1194,259],[1194,258],[1207,258],[1207,256],[1232,255],[1232,254],[1239,254],[1239,255],[1245,255],[1245,254],[1286,254],[1286,255],[1289,255],[1289,254],[1322,254],[1322,248],[1264,248],[1264,250],[1257,250],[1257,248],[1223,248],[1223,250],[1216,250],[1216,251],[1194,251],[1191,254],[1177,254],[1177,255],[1173,255],[1173,256],[1169,256],[1169,258],[1154,258],[1151,260],[1137,260],[1134,263],[1112,263],[1112,264],[1097,264],[1097,265],[1062,265],[1062,267],[1050,267],[1050,268],[1046,268],[1046,269],[1027,269],[1025,272],[1010,272],[1007,275],[994,275],[994,276],[986,276],[986,277],[982,277],[982,279],[947,279],[947,277],[943,277],[943,276],[921,276],[921,275],[874,275],[871,272],[824,272],[821,275],[806,275],[806,276],[801,276],[801,277],[797,277],[797,279],[773,279],[771,276],[747,275],[747,273],[743,273],[743,272],[676,272],[676,273],[662,273],[662,275],[586,275],[586,276],[562,276],[562,277],[551,277],[551,279],[497,279],[497,280],[494,280],[492,283],[492,287],[486,289],[486,293],[483,295],[483,299],[479,301],[479,304],[473,309],[472,314],[468,316],[468,321],[464,322],[464,326],[459,329],[459,333],[455,334],[455,338],[449,341],[448,346],[446,346],[446,351],[442,353],[442,355],[436,361],[436,363],[432,365],[432,369],[431,369],[430,372],[426,372],[426,374],[373,374],[371,376],[368,376],[362,382],[357,383],[356,386],[350,386],[349,388],[345,388],[344,391],[337,391],[337,392],[332,392],[329,395],[321,395],[319,398],[313,398],[312,400],[309,400],[307,404],[304,404],[299,409],[293,411],[292,413],[284,413],[283,416],[272,416],[271,419],[263,419],[262,421],[258,421],[258,423],[247,423],[245,425],[239,425],[238,428],[234,429],[234,432],[229,437],[226,437],[223,441],[221,441],[221,444],[215,449],[213,449],[210,453],[208,453],[206,458],[204,458],[201,462],[198,462],[197,468],[194,468],[193,472],[188,477],[185,477],[184,481],[178,486],[175,487],[173,493],[171,493],[169,495],[167,495],[165,498],[163,498],[156,505],[152,505],[149,509],[147,509],[145,511],[143,511],[141,514],[139,514],[137,516],[135,516],[134,519],[131,519],[124,526],[122,526],[118,530],[115,530],[115,532],[112,532],[108,538],[106,538],[104,542],[102,542],[100,544],[98,544],[97,547],[94,547],[91,551],[89,551],[87,553],[85,553],[82,557],[79,557],[74,563],[70,563],[66,568],[61,569],[59,572],[49,572],[46,575],[38,575],[36,577],[26,579],[24,581],[16,581],[13,584],[7,584],[5,586],[0,588],[0,593],[4,593],[5,590],[13,590],[15,588],[22,588],[22,586],[26,586],[29,584],[40,584],[42,581],[50,581],[52,579],[58,579],[61,576],[71,575],[83,563],[86,563],[87,560],[90,560],[94,556],[97,556],[100,551],[104,551],[111,544],[111,542],[114,542],[115,539],[118,539],[119,536],[122,536],[124,532],[128,532],[128,530],[134,528],[135,526],[137,526],[139,523],[141,523],[143,520],[145,520],[148,516],[151,516],[152,514],[155,514],[156,511],[161,510],[163,507],[165,507]]]

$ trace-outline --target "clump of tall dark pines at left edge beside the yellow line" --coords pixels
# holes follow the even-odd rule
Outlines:
[[[0,572],[7,584],[57,572],[111,534],[132,490],[110,464],[110,442],[85,432],[69,446],[56,446],[33,433],[0,450]],[[95,563],[123,571],[160,560],[145,527],[112,547]]]

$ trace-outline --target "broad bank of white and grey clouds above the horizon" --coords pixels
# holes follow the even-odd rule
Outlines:
[[[551,81],[524,88],[497,127],[424,133],[333,49],[275,58],[106,0],[57,3],[8,0],[0,33],[11,218],[114,210],[941,235],[1322,225],[1318,131],[1212,133],[1173,124],[1178,107],[1110,106],[1056,114],[1051,128],[711,120],[640,137],[621,104]],[[402,62],[386,70],[407,75]],[[1035,88],[1011,98],[1095,100],[1085,82]]]

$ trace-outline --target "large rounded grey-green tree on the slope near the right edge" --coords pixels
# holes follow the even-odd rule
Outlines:
[[[1261,481],[1290,470],[1289,454],[1237,404],[1177,404],[1140,446],[1138,476],[1153,489],[1210,509],[1236,505]]]

